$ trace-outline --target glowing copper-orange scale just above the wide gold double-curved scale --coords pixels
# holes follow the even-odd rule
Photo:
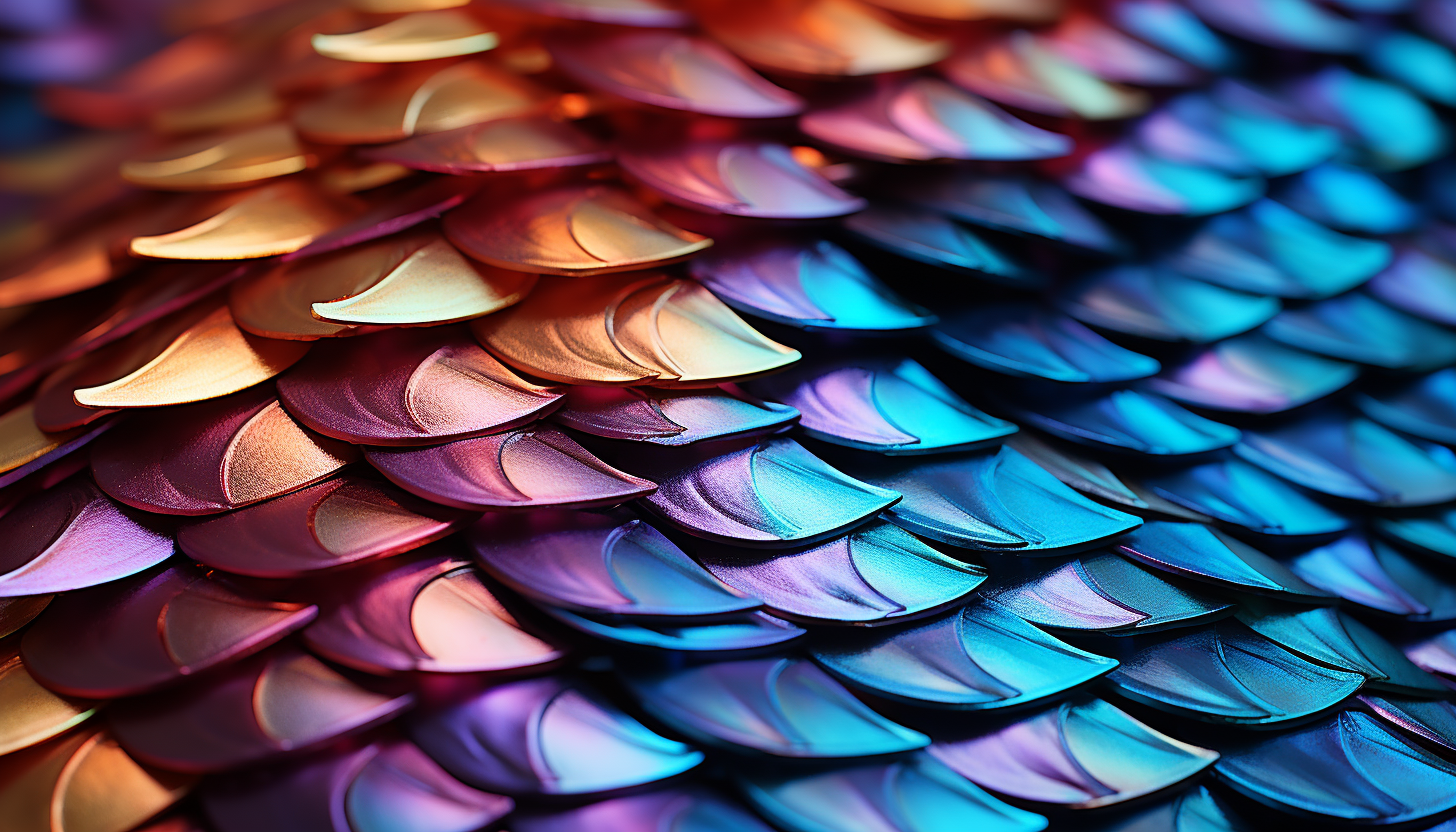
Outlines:
[[[568,277],[677,262],[712,245],[606,185],[569,185],[508,200],[486,194],[451,211],[444,229],[451,243],[478,261]]]

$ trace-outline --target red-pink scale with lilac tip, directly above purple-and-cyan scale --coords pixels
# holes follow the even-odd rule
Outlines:
[[[767,141],[697,141],[620,150],[622,169],[671,203],[740,217],[840,217],[868,203]]]

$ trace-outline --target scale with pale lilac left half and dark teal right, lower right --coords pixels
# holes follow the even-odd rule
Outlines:
[[[1112,552],[1080,555],[986,594],[1021,618],[1050,628],[1114,634],[1195,627],[1230,615],[1233,605],[1204,589],[1174,583]]]

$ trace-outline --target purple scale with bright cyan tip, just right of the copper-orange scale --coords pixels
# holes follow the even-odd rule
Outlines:
[[[935,323],[828,240],[731,240],[689,270],[728,306],[802,329],[895,334]]]

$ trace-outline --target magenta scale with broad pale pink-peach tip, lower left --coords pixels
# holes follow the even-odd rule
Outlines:
[[[303,641],[348,667],[482,673],[540,667],[565,654],[523,627],[466,561],[448,555],[339,583]]]

